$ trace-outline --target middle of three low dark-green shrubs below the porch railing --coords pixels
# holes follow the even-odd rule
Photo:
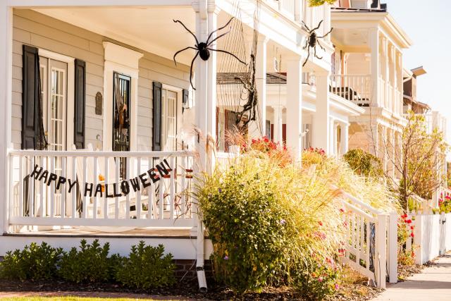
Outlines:
[[[111,279],[109,243],[101,247],[99,240],[89,245],[86,240],[80,242],[80,251],[76,247],[63,254],[59,274],[66,281],[102,282]]]

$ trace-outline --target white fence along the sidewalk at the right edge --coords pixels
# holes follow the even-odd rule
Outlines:
[[[451,214],[409,214],[414,238],[407,241],[407,250],[416,254],[416,264],[424,264],[451,250]]]

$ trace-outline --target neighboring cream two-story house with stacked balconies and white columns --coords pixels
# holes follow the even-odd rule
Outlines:
[[[402,51],[412,42],[380,1],[337,1],[331,10],[331,89],[365,109],[350,119],[350,149],[376,154],[394,176],[388,152],[400,147]]]

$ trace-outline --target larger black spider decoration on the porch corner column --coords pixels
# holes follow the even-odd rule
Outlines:
[[[185,24],[182,23],[182,21],[180,21],[180,20],[173,20],[174,23],[180,23],[183,27],[185,27],[185,30],[187,30],[187,32],[190,32],[190,34],[191,34],[191,35],[194,37],[194,39],[196,40],[196,44],[194,45],[194,47],[186,47],[186,48],[184,48],[184,49],[182,49],[182,50],[179,50],[179,51],[175,52],[175,54],[174,54],[174,63],[175,63],[175,66],[177,66],[177,61],[175,61],[175,56],[177,56],[177,54],[180,54],[180,52],[185,51],[185,50],[187,50],[187,49],[194,49],[194,50],[197,50],[197,53],[196,53],[196,55],[194,56],[194,59],[192,59],[192,61],[191,61],[191,67],[190,67],[190,84],[191,84],[191,87],[192,87],[193,90],[196,90],[196,88],[194,88],[194,86],[192,85],[192,65],[194,64],[194,60],[197,58],[197,56],[200,56],[200,58],[201,58],[202,60],[204,60],[204,61],[208,61],[208,59],[210,58],[210,51],[223,52],[224,54],[230,54],[230,55],[233,56],[235,59],[237,59],[238,61],[240,61],[240,63],[243,63],[243,64],[246,65],[246,63],[245,63],[244,61],[241,61],[237,56],[235,56],[235,54],[231,54],[230,52],[225,51],[225,50],[221,50],[221,49],[213,49],[213,48],[209,48],[209,46],[210,46],[211,44],[213,44],[213,42],[215,42],[215,41],[216,41],[217,39],[219,39],[220,37],[223,37],[223,36],[227,35],[227,34],[230,32],[230,30],[228,30],[228,32],[224,32],[222,35],[218,35],[218,37],[215,37],[214,39],[212,39],[212,40],[210,41],[211,36],[212,36],[215,32],[217,32],[217,31],[219,31],[219,30],[223,30],[224,28],[226,28],[226,27],[230,24],[230,22],[232,22],[232,20],[233,20],[233,17],[230,18],[230,20],[228,20],[228,23],[227,23],[226,25],[224,25],[223,27],[219,27],[217,30],[212,31],[212,32],[210,33],[208,39],[206,39],[206,42],[200,42],[200,43],[199,43],[199,41],[197,40],[196,35],[194,35],[194,33],[192,33],[191,30],[187,29],[187,27],[185,26]]]

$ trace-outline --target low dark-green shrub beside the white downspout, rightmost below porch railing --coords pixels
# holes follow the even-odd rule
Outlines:
[[[164,255],[163,245],[152,247],[140,241],[129,257],[122,259],[116,280],[130,288],[161,288],[175,283],[172,255]]]

